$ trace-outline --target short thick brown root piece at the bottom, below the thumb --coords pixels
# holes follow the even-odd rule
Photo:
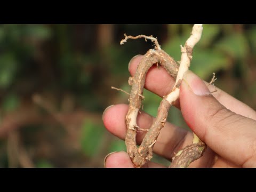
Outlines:
[[[187,168],[190,163],[202,157],[205,150],[206,145],[202,141],[185,147],[173,157],[170,168]]]

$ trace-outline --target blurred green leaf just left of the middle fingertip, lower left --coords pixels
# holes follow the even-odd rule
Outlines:
[[[98,153],[105,129],[102,125],[95,124],[90,120],[82,125],[81,146],[83,152],[91,157]]]

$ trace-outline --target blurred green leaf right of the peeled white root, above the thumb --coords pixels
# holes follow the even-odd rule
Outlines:
[[[228,58],[220,52],[201,50],[195,48],[190,70],[202,79],[208,78],[212,73],[230,66]]]

